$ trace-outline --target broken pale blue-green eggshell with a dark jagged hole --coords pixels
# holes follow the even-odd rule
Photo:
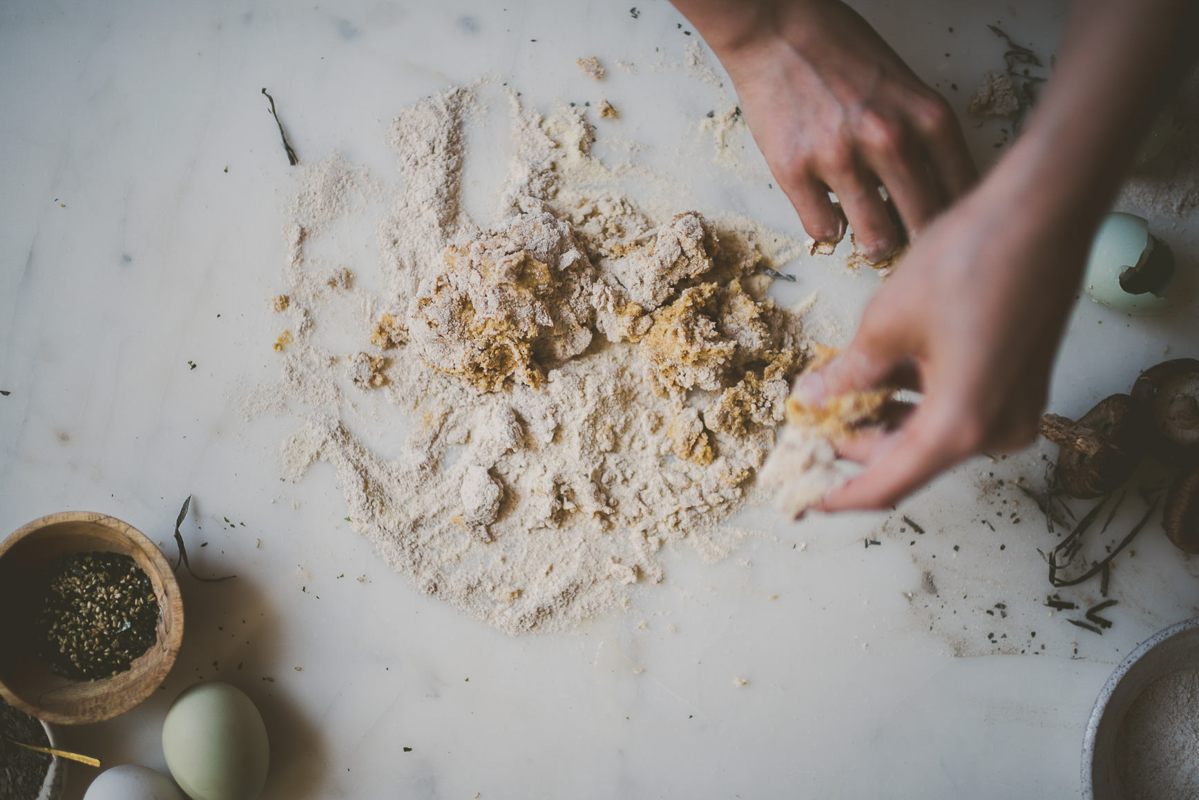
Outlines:
[[[1174,254],[1134,214],[1110,213],[1099,225],[1083,285],[1096,303],[1127,314],[1158,314],[1174,303]]]

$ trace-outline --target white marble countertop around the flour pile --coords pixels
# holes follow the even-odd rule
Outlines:
[[[1040,449],[978,459],[891,515],[784,526],[752,510],[771,535],[724,562],[681,550],[627,613],[512,638],[391,572],[344,522],[327,465],[281,483],[294,420],[240,416],[247,387],[278,371],[266,299],[296,187],[259,90],[302,162],[341,152],[390,176],[384,133],[415,99],[490,74],[548,111],[601,98],[576,57],[620,59],[635,72],[609,69],[603,85],[619,138],[668,169],[706,146],[694,123],[718,90],[680,66],[682,18],[664,0],[634,18],[632,1],[0,7],[0,533],[97,510],[173,556],[191,493],[197,569],[239,576],[181,576],[186,640],[164,690],[64,731],[65,746],[163,769],[162,716],[203,677],[263,709],[271,799],[1077,796],[1101,684],[1137,642],[1197,613],[1199,582],[1155,526],[1113,577],[1111,630],[1049,618],[1037,549],[1055,539],[998,483],[1038,478]],[[1065,12],[860,6],[963,119],[969,89],[1002,63],[986,23],[1049,54]],[[1000,152],[1000,127],[968,123],[980,163]],[[700,210],[800,234],[779,193],[692,171]],[[1194,217],[1153,222],[1193,265]],[[796,263],[784,289],[820,290],[818,313],[851,326],[876,278],[842,263]],[[1132,320],[1080,302],[1050,407],[1080,414],[1167,347],[1195,354],[1194,308]],[[1005,504],[1022,499],[1035,519],[1016,525]],[[916,541],[900,515],[928,533]],[[940,616],[923,607],[926,570]],[[974,594],[950,598],[959,587]],[[995,602],[1011,618],[988,614]],[[953,657],[996,649],[993,631],[1025,654]],[[72,765],[67,796],[91,776]]]

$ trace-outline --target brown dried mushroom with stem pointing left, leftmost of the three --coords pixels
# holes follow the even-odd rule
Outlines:
[[[1113,394],[1077,423],[1058,414],[1041,418],[1041,435],[1060,446],[1058,480],[1073,497],[1099,497],[1128,480],[1145,454],[1138,406]]]

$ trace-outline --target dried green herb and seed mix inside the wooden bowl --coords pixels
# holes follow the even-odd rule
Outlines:
[[[158,599],[150,576],[125,553],[72,553],[46,574],[35,618],[40,655],[73,680],[100,680],[129,668],[158,638]]]

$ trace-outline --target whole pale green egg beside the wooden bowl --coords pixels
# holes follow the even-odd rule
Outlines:
[[[195,684],[175,698],[162,726],[162,751],[192,800],[254,800],[266,783],[263,715],[225,683]]]

